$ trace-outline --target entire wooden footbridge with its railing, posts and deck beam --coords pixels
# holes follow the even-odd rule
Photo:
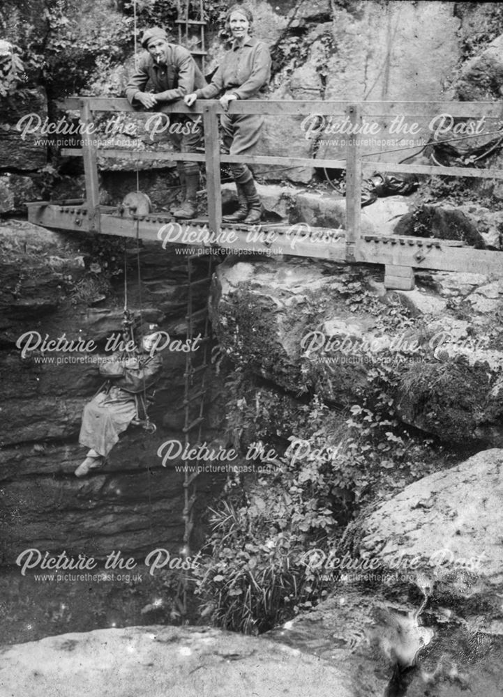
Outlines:
[[[80,111],[84,133],[93,133],[93,112],[135,112],[126,99],[73,97],[64,100],[65,109]],[[81,156],[86,181],[85,201],[54,203],[37,201],[27,204],[30,222],[45,227],[68,231],[100,232],[106,235],[139,237],[160,240],[170,232],[172,243],[200,247],[211,251],[223,247],[234,252],[266,252],[308,256],[347,263],[379,263],[385,267],[385,285],[389,288],[412,289],[414,269],[446,271],[472,271],[474,273],[503,276],[503,254],[488,250],[463,247],[452,240],[439,240],[410,236],[380,236],[361,233],[361,176],[362,166],[377,171],[402,174],[430,174],[469,176],[503,179],[502,169],[477,169],[474,167],[433,167],[419,164],[393,164],[364,160],[359,135],[346,139],[345,160],[320,158],[265,157],[260,155],[230,156],[220,153],[218,116],[223,113],[218,100],[198,100],[190,109],[177,102],[174,105],[157,105],[156,112],[164,114],[200,114],[204,125],[203,153],[164,153],[130,151],[119,148],[96,147],[93,135],[83,135],[82,148],[63,149],[64,156]],[[347,101],[264,101],[236,100],[230,105],[236,114],[264,114],[269,116],[309,116],[320,118],[347,117],[357,130],[362,118],[391,119],[402,114],[410,118],[431,118],[434,114],[449,113],[456,119],[481,118],[501,121],[503,102],[347,102]],[[85,130],[87,129],[87,130]],[[410,148],[412,149],[412,148]],[[191,160],[204,162],[207,177],[208,219],[175,221],[170,215],[151,213],[145,216],[130,215],[120,206],[100,206],[98,190],[98,152],[103,158],[122,160]],[[345,231],[320,228],[308,229],[296,235],[292,244],[292,226],[288,224],[260,224],[254,230],[243,225],[222,223],[220,189],[220,163],[243,162],[269,164],[280,167],[327,167],[346,170],[346,224]],[[178,226],[178,227],[176,227]],[[160,229],[163,232],[160,233]],[[174,239],[176,238],[176,239]],[[185,241],[184,241],[185,240]],[[197,240],[197,241],[190,241]]]

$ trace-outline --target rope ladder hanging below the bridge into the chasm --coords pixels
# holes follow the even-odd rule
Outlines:
[[[200,256],[194,254],[187,257],[187,340],[192,342],[194,338],[195,323],[204,317],[204,330],[202,332],[202,341],[199,344],[201,351],[197,351],[195,355],[200,355],[201,360],[195,365],[195,357],[193,351],[188,351],[186,354],[184,378],[184,393],[183,393],[183,411],[184,425],[183,436],[186,448],[193,447],[201,443],[202,424],[204,422],[204,397],[207,392],[207,368],[209,365],[209,316],[207,307],[194,312],[193,301],[194,291],[197,286],[207,285],[211,283],[212,274],[212,258],[209,256],[208,272],[204,278],[193,279],[194,259],[200,259]],[[195,437],[194,437],[195,434]],[[183,460],[183,523],[185,526],[183,532],[183,553],[185,556],[190,556],[190,536],[194,527],[194,504],[197,498],[197,489],[195,480],[197,478],[197,463],[194,464],[188,459]],[[181,587],[179,588],[179,610],[183,617],[187,614],[187,592],[188,578],[183,574],[181,579]]]

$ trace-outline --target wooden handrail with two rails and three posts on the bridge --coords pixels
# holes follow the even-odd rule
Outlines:
[[[86,178],[87,201],[91,216],[91,230],[100,229],[100,208],[98,192],[98,168],[96,164],[98,150],[96,139],[93,139],[93,111],[137,112],[128,100],[124,98],[102,97],[70,97],[59,103],[63,109],[79,109],[81,121],[87,127],[89,135],[82,137],[82,155],[84,157],[84,174]],[[481,116],[482,112],[482,116]],[[142,109],[142,113],[145,110]],[[201,114],[204,121],[204,155],[197,153],[153,153],[152,151],[128,151],[107,149],[101,151],[104,157],[119,157],[128,160],[191,160],[203,161],[206,164],[207,193],[209,208],[209,229],[215,233],[220,231],[221,224],[221,190],[220,162],[244,162],[247,164],[283,165],[284,167],[330,167],[346,169],[347,171],[347,205],[346,205],[346,259],[354,261],[355,252],[359,247],[360,216],[361,216],[361,167],[381,169],[382,171],[414,172],[417,174],[444,174],[448,176],[472,176],[476,178],[503,179],[502,169],[477,169],[475,167],[430,167],[419,164],[395,164],[391,162],[363,162],[360,153],[359,140],[369,137],[368,133],[360,130],[365,123],[365,117],[391,118],[393,116],[412,116],[421,118],[428,116],[437,118],[449,114],[449,118],[478,118],[482,123],[485,119],[502,119],[503,102],[349,102],[349,101],[307,101],[307,100],[235,100],[231,102],[230,114],[269,114],[280,116],[320,116],[331,125],[333,116],[343,116],[348,129],[337,133],[345,140],[345,160],[291,158],[291,157],[261,157],[258,155],[230,156],[220,155],[218,138],[218,116],[223,114],[223,108],[218,100],[197,100],[193,107],[187,107],[179,100],[172,104],[156,105],[149,114]],[[377,122],[376,122],[377,123]],[[430,121],[430,123],[432,123]],[[475,129],[476,131],[476,129]],[[329,134],[331,132],[329,131]],[[474,134],[475,135],[475,134]],[[481,134],[483,135],[483,134]],[[387,133],[391,138],[393,134]],[[372,137],[370,135],[370,137]],[[398,135],[396,136],[398,137]],[[413,147],[406,148],[412,150]],[[74,149],[63,151],[73,155]],[[373,155],[371,155],[373,156]]]

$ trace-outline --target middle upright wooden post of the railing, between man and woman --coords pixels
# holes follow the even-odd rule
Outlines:
[[[222,224],[222,192],[220,190],[220,139],[214,107],[204,105],[204,151],[206,160],[206,187],[208,192],[209,229],[216,235]]]

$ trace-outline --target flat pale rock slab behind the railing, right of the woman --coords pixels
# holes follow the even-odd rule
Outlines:
[[[444,89],[456,68],[460,47],[456,32],[459,20],[449,3],[391,2],[386,11],[377,3],[364,3],[361,11],[336,8],[333,22],[320,24],[310,35],[311,44],[322,38],[326,45],[326,100],[414,100],[433,103],[445,99]],[[310,56],[308,62],[315,59]],[[371,114],[371,109],[368,109]],[[417,153],[421,137],[430,138],[428,116],[403,114],[391,132],[392,119],[368,116],[374,132],[363,132],[363,153],[376,153],[373,161],[399,162]],[[342,123],[334,114],[331,123]],[[415,125],[414,134],[406,129]],[[340,157],[346,135],[327,130],[317,137],[320,158]],[[343,155],[344,156],[344,155]]]

